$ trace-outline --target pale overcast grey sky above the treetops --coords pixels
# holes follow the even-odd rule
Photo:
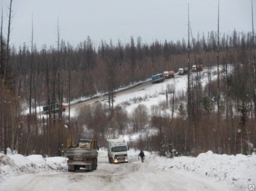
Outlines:
[[[0,2],[6,36],[9,0]],[[58,17],[60,39],[73,46],[87,36],[96,46],[101,39],[128,43],[131,36],[135,42],[141,36],[143,43],[187,40],[188,3],[193,37],[218,30],[218,0],[13,0],[10,42],[31,44],[32,14],[39,49],[43,44],[56,47]],[[253,5],[256,28],[256,0]],[[220,32],[231,34],[234,28],[252,31],[251,0],[220,0]]]

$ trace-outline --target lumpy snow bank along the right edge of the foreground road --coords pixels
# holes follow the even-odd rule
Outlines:
[[[214,154],[212,151],[199,154],[197,157],[165,157],[149,156],[150,165],[156,169],[168,171],[181,169],[196,173],[199,176],[209,177],[216,181],[225,182],[235,187],[248,188],[256,185],[256,154]],[[154,159],[153,159],[154,158]],[[158,161],[158,162],[156,162]]]

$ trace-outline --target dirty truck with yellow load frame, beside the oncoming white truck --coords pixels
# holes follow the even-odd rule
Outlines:
[[[75,146],[68,139],[66,150],[68,172],[75,172],[80,168],[92,172],[98,166],[98,144],[93,139],[78,139]]]

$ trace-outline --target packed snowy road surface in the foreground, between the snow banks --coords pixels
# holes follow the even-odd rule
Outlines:
[[[161,171],[147,163],[148,155],[141,163],[136,155],[129,163],[110,164],[106,156],[98,157],[98,169],[85,173],[39,173],[16,176],[0,186],[1,191],[225,191],[231,190],[210,179],[180,170]]]

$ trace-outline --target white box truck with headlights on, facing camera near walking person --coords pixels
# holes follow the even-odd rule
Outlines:
[[[124,139],[108,139],[107,140],[107,156],[109,163],[128,163],[127,150]]]

